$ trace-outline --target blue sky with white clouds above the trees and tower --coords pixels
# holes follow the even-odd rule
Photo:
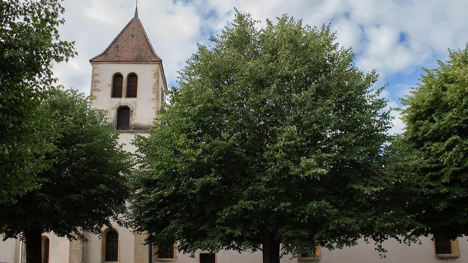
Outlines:
[[[75,41],[78,56],[54,66],[59,84],[89,94],[91,64],[124,28],[135,12],[135,0],[65,0],[62,40]],[[375,88],[388,84],[382,96],[389,107],[415,87],[421,68],[446,61],[448,50],[468,42],[467,0],[139,0],[138,13],[146,33],[162,58],[168,86],[177,86],[177,71],[197,52],[197,43],[229,27],[234,7],[255,20],[276,20],[283,14],[320,27],[330,23],[336,41],[356,53],[362,71],[380,74]],[[394,128],[403,124],[394,112]]]

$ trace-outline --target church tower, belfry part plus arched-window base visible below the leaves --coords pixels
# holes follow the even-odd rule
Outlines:
[[[134,152],[130,142],[135,134],[148,135],[167,91],[162,60],[154,52],[137,9],[110,45],[89,62],[93,66],[91,107],[108,110],[109,122],[123,132],[119,142],[125,143],[124,150]],[[85,233],[89,242],[82,245],[77,263],[148,263],[152,259],[152,250],[143,245],[146,235],[133,234],[115,222],[112,228],[104,227],[102,237]]]

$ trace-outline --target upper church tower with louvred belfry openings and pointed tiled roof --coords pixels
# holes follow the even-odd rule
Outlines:
[[[154,52],[145,29],[135,16],[99,55],[89,60],[91,107],[109,111],[109,122],[124,133],[126,150],[133,134],[146,134],[165,101],[166,78],[161,58]]]

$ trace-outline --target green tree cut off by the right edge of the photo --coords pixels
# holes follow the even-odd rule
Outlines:
[[[422,234],[453,239],[468,235],[468,46],[449,57],[401,100],[406,128],[395,145],[417,161],[407,167]]]

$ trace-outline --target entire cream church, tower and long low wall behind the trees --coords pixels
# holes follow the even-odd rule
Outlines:
[[[108,110],[109,121],[120,129],[120,143],[134,152],[130,144],[135,134],[147,136],[155,110],[166,100],[168,90],[162,59],[156,54],[135,10],[110,45],[91,58],[91,107]],[[113,223],[113,229],[102,228],[102,236],[85,233],[88,243],[69,241],[53,233],[43,234],[43,263],[260,263],[262,252],[238,253],[220,251],[208,254],[197,251],[194,258],[179,253],[176,244],[145,245],[146,235],[135,235],[132,229]],[[0,238],[2,236],[0,235]],[[321,263],[445,263],[468,262],[468,237],[454,241],[421,237],[421,245],[407,246],[395,240],[383,243],[388,250],[380,258],[373,243],[361,240],[352,248],[328,250],[317,247]],[[164,248],[164,254],[154,255]],[[24,243],[19,239],[0,241],[0,263],[25,263]],[[306,262],[305,257],[286,255],[281,263]]]

